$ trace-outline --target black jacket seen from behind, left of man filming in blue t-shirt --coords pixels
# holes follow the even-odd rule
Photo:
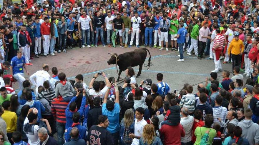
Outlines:
[[[99,115],[102,115],[102,107],[101,106],[94,106],[91,110],[89,110],[88,116],[87,116],[87,127],[90,129],[91,126],[97,125],[98,117]]]

